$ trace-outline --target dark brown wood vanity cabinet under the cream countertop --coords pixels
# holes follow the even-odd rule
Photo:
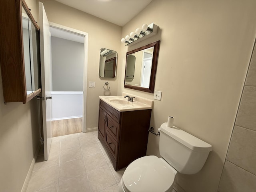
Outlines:
[[[146,155],[151,109],[119,112],[100,100],[98,138],[117,171]]]

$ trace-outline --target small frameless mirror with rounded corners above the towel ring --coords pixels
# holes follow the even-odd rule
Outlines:
[[[117,52],[105,48],[100,49],[100,77],[116,77]]]

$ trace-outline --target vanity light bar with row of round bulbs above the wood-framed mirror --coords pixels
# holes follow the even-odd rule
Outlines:
[[[158,26],[154,23],[151,23],[149,25],[143,24],[142,30],[140,28],[137,28],[134,32],[130,33],[129,35],[126,35],[125,38],[121,39],[122,43],[126,43],[126,45],[131,46],[132,44],[138,43],[146,38],[149,38],[150,36],[153,36],[157,34]]]

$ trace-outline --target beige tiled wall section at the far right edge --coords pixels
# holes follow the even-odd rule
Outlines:
[[[256,48],[252,54],[218,192],[256,191]]]

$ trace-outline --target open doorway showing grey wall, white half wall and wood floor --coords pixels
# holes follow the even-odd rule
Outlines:
[[[52,137],[85,132],[88,34],[50,23]]]

